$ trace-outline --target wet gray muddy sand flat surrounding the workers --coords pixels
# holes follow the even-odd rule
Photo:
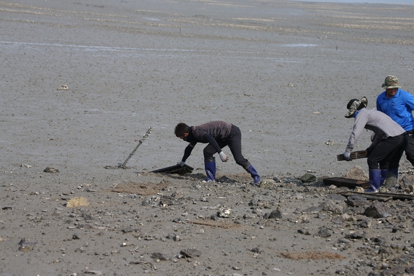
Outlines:
[[[1,276],[414,270],[412,201],[370,220],[371,200],[299,180],[367,170],[336,159],[345,106],[375,108],[386,75],[414,92],[414,6],[20,0],[0,15]],[[228,148],[219,181],[202,183],[201,144],[192,173],[152,172],[181,159],[178,122],[213,120],[239,126],[266,185]],[[148,128],[129,168],[110,168]]]

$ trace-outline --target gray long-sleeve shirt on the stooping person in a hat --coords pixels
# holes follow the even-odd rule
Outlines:
[[[383,112],[363,108],[359,110],[355,117],[355,123],[348,140],[348,146],[346,146],[346,152],[353,150],[364,128],[375,132],[373,144],[378,143],[381,139],[402,135],[405,132],[404,128],[395,123],[393,119]]]

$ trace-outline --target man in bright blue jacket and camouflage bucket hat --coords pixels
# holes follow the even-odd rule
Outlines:
[[[382,88],[385,91],[377,97],[377,110],[384,112],[405,130],[404,141],[391,158],[388,167],[388,177],[397,179],[403,152],[414,166],[414,96],[402,90],[397,77],[392,75],[385,78]]]

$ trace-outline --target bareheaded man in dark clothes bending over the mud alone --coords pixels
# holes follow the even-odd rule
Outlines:
[[[175,135],[189,144],[184,150],[184,156],[179,165],[184,166],[186,159],[190,156],[195,145],[199,143],[208,144],[204,152],[204,167],[206,169],[207,178],[205,181],[214,181],[216,174],[215,157],[216,152],[219,152],[221,161],[227,162],[228,156],[221,150],[225,146],[230,148],[233,157],[238,165],[242,166],[253,178],[253,185],[260,183],[260,177],[255,168],[242,155],[242,132],[226,121],[210,121],[200,126],[188,126],[184,123],[179,123],[175,126]]]

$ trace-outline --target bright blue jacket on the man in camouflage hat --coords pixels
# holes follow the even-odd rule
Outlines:
[[[405,131],[414,129],[414,117],[412,114],[414,110],[414,96],[410,93],[399,88],[397,94],[388,99],[386,92],[382,92],[377,97],[377,110],[391,117]]]

